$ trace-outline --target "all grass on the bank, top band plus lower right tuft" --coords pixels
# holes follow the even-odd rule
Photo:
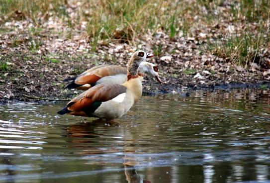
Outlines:
[[[73,8],[68,1],[79,3],[75,19],[67,11]],[[224,32],[204,45],[219,57],[247,65],[269,42],[270,0],[0,0],[0,4],[0,18],[28,18],[37,26],[50,16],[64,17],[70,27],[87,21],[93,51],[98,43],[114,40],[136,46],[141,35],[159,30],[171,38],[189,37],[194,27],[222,22],[245,28],[229,35]]]

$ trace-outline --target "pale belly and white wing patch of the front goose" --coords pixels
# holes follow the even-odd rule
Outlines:
[[[104,119],[114,119],[123,116],[133,104],[131,94],[121,93],[111,100],[102,102],[93,114]]]

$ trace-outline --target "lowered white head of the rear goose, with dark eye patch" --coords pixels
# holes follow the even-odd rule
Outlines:
[[[152,63],[149,63],[149,62],[142,62],[139,66],[139,69],[138,69],[138,73],[139,74],[148,74],[154,78],[156,78],[156,80],[162,84],[162,81],[160,80],[160,77],[159,77],[159,68],[158,66],[156,66],[155,64],[152,64]]]

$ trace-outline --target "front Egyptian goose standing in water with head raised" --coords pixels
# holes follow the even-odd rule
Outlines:
[[[106,120],[124,115],[142,95],[142,82],[138,76],[141,62],[154,55],[139,50],[133,53],[127,66],[124,84],[96,85],[72,99],[58,114],[99,117]]]

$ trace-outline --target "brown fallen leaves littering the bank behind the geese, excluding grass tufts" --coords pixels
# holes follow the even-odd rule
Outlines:
[[[254,59],[246,67],[232,64],[232,58],[218,57],[214,51],[210,53],[202,49],[203,45],[211,46],[210,42],[223,41],[225,36],[247,27],[244,21],[233,22],[225,18],[228,13],[226,3],[215,9],[216,12],[224,13],[224,19],[220,22],[204,24],[200,21],[200,15],[193,16],[191,13],[189,19],[196,21],[188,24],[188,30],[184,30],[183,22],[183,30],[180,29],[174,38],[170,38],[161,27],[155,32],[147,30],[136,36],[136,46],[123,40],[122,36],[126,33],[121,28],[116,28],[113,38],[97,40],[95,44],[86,32],[87,19],[76,23],[80,13],[91,15],[91,9],[80,9],[80,1],[67,3],[68,19],[40,13],[40,22],[35,25],[18,11],[16,14],[21,17],[19,20],[10,19],[0,26],[7,30],[0,34],[0,55],[10,57],[7,65],[12,71],[23,72],[0,74],[0,82],[6,84],[0,86],[1,98],[9,99],[19,95],[19,92],[59,97],[66,93],[63,90],[63,78],[100,64],[125,66],[136,49],[156,52],[156,57],[149,61],[158,65],[162,80],[166,83],[161,86],[151,80],[144,81],[146,91],[177,92],[187,86],[256,83],[270,78],[270,45],[260,50],[260,61]],[[201,10],[204,14],[208,13],[205,7]],[[258,25],[253,23],[249,26],[255,30]],[[100,32],[106,33],[104,27],[101,27]],[[30,49],[31,46],[33,49]]]

